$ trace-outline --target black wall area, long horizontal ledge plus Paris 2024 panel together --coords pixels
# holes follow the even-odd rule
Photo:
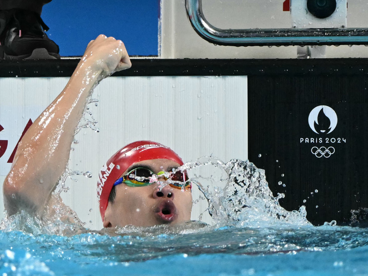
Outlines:
[[[0,60],[0,77],[69,77],[78,61]],[[133,59],[113,76],[247,75],[249,160],[284,208],[342,224],[368,207],[367,61]]]

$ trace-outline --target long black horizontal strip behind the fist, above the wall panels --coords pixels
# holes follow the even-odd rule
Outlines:
[[[70,77],[79,59],[0,60],[0,77]],[[132,59],[113,76],[362,75],[368,59]]]

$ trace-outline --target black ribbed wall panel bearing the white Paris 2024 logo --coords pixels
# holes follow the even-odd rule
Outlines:
[[[347,223],[350,210],[368,207],[367,81],[366,75],[248,78],[249,159],[266,170],[275,195],[286,195],[282,206],[305,205],[314,224]],[[315,107],[321,111],[311,117],[319,124],[311,127]]]

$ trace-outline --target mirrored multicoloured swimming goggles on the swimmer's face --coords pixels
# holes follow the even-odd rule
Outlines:
[[[164,171],[154,174],[147,168],[135,168],[116,180],[114,186],[120,183],[125,183],[130,187],[148,186],[158,181],[158,178],[162,177],[164,180],[170,180],[168,184],[173,188],[182,189],[183,185],[185,190],[192,188],[192,183],[189,181],[186,171],[178,170],[175,173],[171,172],[169,177],[166,177],[164,174]]]

